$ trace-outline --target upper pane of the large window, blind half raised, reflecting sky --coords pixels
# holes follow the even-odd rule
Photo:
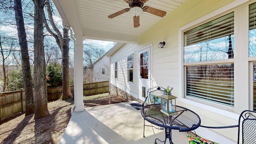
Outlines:
[[[234,58],[234,12],[184,32],[184,63]]]

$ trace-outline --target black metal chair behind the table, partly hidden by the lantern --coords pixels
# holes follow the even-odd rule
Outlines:
[[[148,100],[147,104],[160,104],[160,96],[163,95],[163,90],[166,90],[166,89],[162,88],[160,86],[156,86],[154,88],[148,89],[147,96],[145,98],[145,101],[142,103],[142,107],[146,104],[147,100]],[[145,135],[144,135],[145,134],[145,126],[149,126],[149,125],[145,125],[145,119],[144,119],[143,137],[145,137]],[[155,126],[153,126],[153,127],[155,127]],[[164,128],[157,128],[157,129],[164,130]]]

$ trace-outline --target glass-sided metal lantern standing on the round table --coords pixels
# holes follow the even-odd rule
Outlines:
[[[176,112],[176,96],[171,94],[164,94],[160,96],[161,98],[161,110],[160,112],[166,114],[167,116],[172,116],[177,114]]]

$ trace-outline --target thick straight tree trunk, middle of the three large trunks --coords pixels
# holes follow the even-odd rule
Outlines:
[[[46,68],[44,60],[44,0],[34,0],[34,119],[46,115],[47,89]]]

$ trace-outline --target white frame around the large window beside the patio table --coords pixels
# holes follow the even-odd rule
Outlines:
[[[215,10],[214,12],[211,12],[198,20],[195,20],[193,22],[190,22],[189,24],[182,26],[178,30],[178,50],[179,50],[179,100],[181,102],[192,104],[193,106],[203,108],[204,110],[209,110],[211,112],[216,112],[218,114],[229,116],[230,118],[237,118],[237,114],[239,114],[242,110],[248,109],[248,98],[244,98],[244,95],[247,95],[248,97],[248,91],[239,90],[239,87],[244,87],[244,85],[248,85],[248,80],[243,80],[239,75],[244,74],[244,78],[248,78],[248,50],[244,52],[241,50],[242,47],[248,46],[248,40],[245,42],[245,38],[248,38],[248,28],[246,29],[246,24],[248,26],[248,17],[246,17],[246,13],[248,15],[248,5],[244,6],[242,8],[236,8],[236,6],[240,6],[244,2],[247,2],[248,0],[235,0],[234,2],[231,2],[230,4],[227,4],[226,6],[223,6],[222,8]],[[233,10],[232,10],[233,9]],[[218,104],[209,104],[203,103],[185,98],[185,89],[186,89],[186,82],[185,82],[185,76],[186,72],[184,71],[184,64],[183,64],[183,42],[184,42],[184,32],[187,30],[190,30],[192,28],[195,28],[196,26],[200,26],[201,24],[205,24],[206,22],[210,22],[211,20],[214,20],[216,18],[219,18],[221,16],[224,16],[225,14],[228,14],[230,12],[234,11],[234,59],[228,59],[228,60],[215,60],[214,64],[220,64],[220,63],[234,63],[234,98],[235,98],[235,104],[234,108],[225,106],[219,106]],[[239,30],[239,28],[244,28],[243,30]],[[240,47],[240,49],[239,49]],[[247,48],[248,49],[248,48]],[[244,54],[246,53],[246,54]],[[240,57],[240,58],[236,58]],[[242,59],[242,60],[241,60]],[[247,64],[246,64],[247,63]],[[194,62],[193,65],[196,64],[212,64],[211,61],[206,61],[204,63],[202,62]],[[189,65],[189,64],[188,64]],[[235,114],[236,113],[236,114]]]

